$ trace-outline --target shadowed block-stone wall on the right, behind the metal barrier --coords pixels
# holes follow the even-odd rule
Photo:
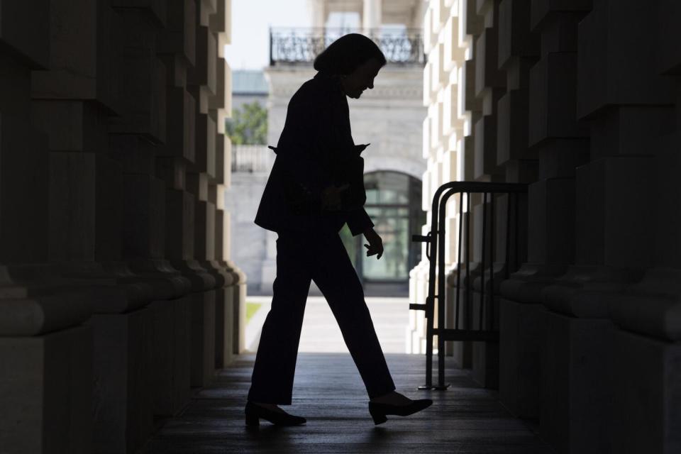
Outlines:
[[[680,14],[670,0],[431,0],[426,11],[424,83],[446,90],[454,77],[438,68],[463,68],[470,125],[444,147],[463,154],[457,179],[528,184],[522,265],[495,289],[499,351],[452,353],[560,453],[681,449]],[[438,133],[424,134],[424,194],[448,181],[432,157],[440,116],[453,115],[440,103],[426,97]]]

